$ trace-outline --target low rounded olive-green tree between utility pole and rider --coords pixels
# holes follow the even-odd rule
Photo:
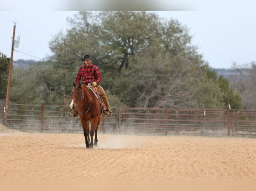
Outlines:
[[[65,76],[65,71],[56,70],[47,62],[17,68],[13,72],[11,99],[18,103],[68,104],[71,91],[65,93]]]

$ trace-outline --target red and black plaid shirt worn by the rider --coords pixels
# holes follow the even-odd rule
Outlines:
[[[87,67],[85,64],[81,66],[77,72],[77,76],[75,79],[75,84],[78,85],[80,79],[82,78],[82,84],[88,85],[88,83],[96,82],[100,84],[101,82],[101,73],[97,66],[90,64]]]

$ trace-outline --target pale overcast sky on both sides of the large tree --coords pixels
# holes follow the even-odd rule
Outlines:
[[[47,1],[47,0],[46,0]],[[200,1],[200,0],[198,0]],[[225,0],[224,0],[225,1]],[[255,8],[256,3],[252,2]],[[160,17],[177,19],[189,29],[192,43],[212,68],[231,68],[256,61],[256,11],[246,7],[233,10],[153,11]],[[48,43],[60,30],[69,28],[67,16],[78,11],[0,11],[0,52],[11,57],[16,22],[13,60],[45,58]],[[81,55],[83,56],[83,55]],[[80,59],[80,58],[79,58]]]

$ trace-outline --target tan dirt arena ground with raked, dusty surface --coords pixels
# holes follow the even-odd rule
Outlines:
[[[256,180],[256,139],[0,128],[0,180]]]

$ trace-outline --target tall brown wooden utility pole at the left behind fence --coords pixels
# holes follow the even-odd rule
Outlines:
[[[8,114],[8,104],[9,104],[10,86],[11,86],[11,77],[12,77],[12,61],[13,61],[13,50],[14,50],[15,28],[16,28],[16,23],[14,24],[14,27],[13,27],[13,36],[12,36],[12,53],[11,53],[7,92],[6,92],[5,124],[7,123],[7,118],[8,118],[7,114]]]

